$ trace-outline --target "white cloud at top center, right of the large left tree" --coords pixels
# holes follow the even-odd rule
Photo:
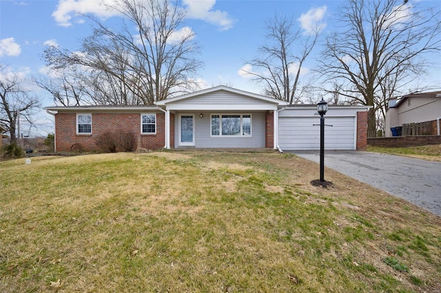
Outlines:
[[[233,27],[233,19],[227,12],[213,10],[215,3],[216,0],[183,0],[183,4],[187,6],[187,17],[218,25],[221,30],[229,30]]]

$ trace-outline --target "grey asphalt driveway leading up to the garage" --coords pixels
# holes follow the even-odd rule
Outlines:
[[[319,151],[291,153],[320,162]],[[325,151],[325,166],[441,217],[441,162],[366,151]]]

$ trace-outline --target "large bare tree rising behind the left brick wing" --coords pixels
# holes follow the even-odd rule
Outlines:
[[[89,96],[98,104],[152,105],[194,89],[198,46],[177,2],[121,0],[109,9],[122,15],[121,31],[93,19],[94,32],[81,52],[47,47],[48,65],[85,67]]]

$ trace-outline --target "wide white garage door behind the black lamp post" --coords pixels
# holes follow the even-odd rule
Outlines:
[[[356,149],[355,117],[326,117],[325,149]],[[318,124],[313,126],[313,124]],[[279,146],[283,150],[319,150],[320,116],[280,117]]]

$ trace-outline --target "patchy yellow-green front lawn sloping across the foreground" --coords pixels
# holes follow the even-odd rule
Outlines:
[[[278,153],[0,162],[0,292],[439,292],[441,219],[326,173]]]

